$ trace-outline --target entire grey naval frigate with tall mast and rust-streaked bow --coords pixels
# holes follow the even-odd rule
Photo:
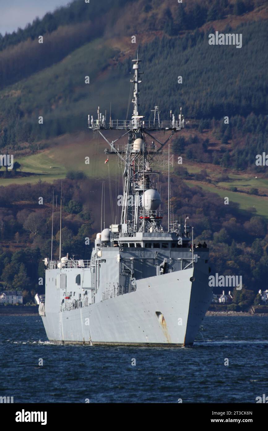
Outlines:
[[[132,61],[131,119],[112,120],[110,114],[107,122],[99,109],[97,119],[88,116],[89,129],[108,144],[105,153],[116,155],[123,166],[120,223],[96,235],[90,260],[68,255],[44,260],[46,294],[39,313],[54,342],[191,346],[213,296],[208,248],[191,247],[188,217],[182,225],[172,221],[170,206],[164,230],[159,209],[153,162],[184,128],[182,109],[177,119],[170,113],[168,121],[160,121],[158,106],[153,120],[139,115],[140,60]],[[121,136],[110,142],[107,130],[122,131]],[[165,142],[152,135],[159,131],[168,134]]]

